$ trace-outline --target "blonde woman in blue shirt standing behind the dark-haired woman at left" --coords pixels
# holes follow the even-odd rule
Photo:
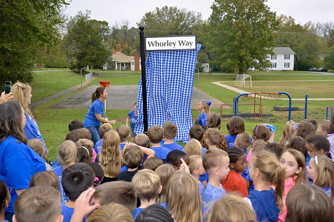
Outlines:
[[[39,139],[44,146],[45,149],[45,156],[47,156],[47,148],[44,144],[42,135],[39,131],[38,125],[35,121],[34,116],[31,114],[31,112],[28,109],[28,106],[31,104],[31,86],[28,84],[23,84],[20,82],[17,82],[12,87],[13,90],[13,99],[12,101],[19,101],[21,106],[23,107],[24,114],[26,117],[26,124],[24,127],[24,133],[28,139]]]

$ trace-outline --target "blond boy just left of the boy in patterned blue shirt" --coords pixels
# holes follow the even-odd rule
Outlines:
[[[189,163],[190,174],[193,177],[195,177],[198,183],[198,188],[201,194],[201,198],[203,199],[205,187],[203,186],[202,182],[199,180],[199,176],[205,174],[202,157],[199,155],[192,155],[192,156],[189,156],[189,159],[190,159],[190,163]]]

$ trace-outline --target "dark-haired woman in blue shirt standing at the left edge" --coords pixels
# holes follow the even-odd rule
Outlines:
[[[3,103],[0,113],[0,180],[13,188],[5,210],[6,220],[12,221],[17,196],[29,188],[32,175],[46,171],[46,168],[42,157],[26,145],[28,139],[23,131],[26,115],[21,105]]]

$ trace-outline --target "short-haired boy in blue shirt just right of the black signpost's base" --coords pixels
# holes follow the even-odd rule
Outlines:
[[[164,137],[164,132],[162,131],[162,128],[158,125],[151,126],[147,130],[147,136],[152,144],[151,149],[155,151],[154,156],[162,159],[162,161],[166,163],[166,157],[169,153],[169,149],[160,145],[160,142]]]

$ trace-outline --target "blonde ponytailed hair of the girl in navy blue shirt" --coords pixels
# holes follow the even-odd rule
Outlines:
[[[285,168],[279,164],[277,157],[268,151],[262,150],[252,157],[251,170],[259,169],[264,182],[276,184],[275,194],[280,213],[283,213],[283,194],[285,183]]]

